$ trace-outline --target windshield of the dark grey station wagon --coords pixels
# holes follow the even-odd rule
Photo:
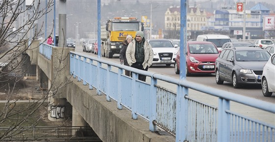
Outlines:
[[[267,51],[236,51],[237,61],[268,61],[270,56]]]

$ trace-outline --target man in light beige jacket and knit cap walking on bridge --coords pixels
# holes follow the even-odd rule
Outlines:
[[[148,67],[152,65],[154,53],[151,45],[144,38],[142,31],[137,31],[135,39],[129,43],[126,50],[127,62],[131,67],[148,70]],[[146,81],[145,75],[138,75],[138,80]]]

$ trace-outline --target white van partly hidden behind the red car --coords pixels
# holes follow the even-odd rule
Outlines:
[[[220,50],[222,45],[226,42],[231,42],[230,37],[222,34],[202,34],[197,36],[197,41],[213,42]]]

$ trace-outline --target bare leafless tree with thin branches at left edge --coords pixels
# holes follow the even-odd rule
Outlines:
[[[45,0],[32,0],[30,6],[26,6],[26,0],[0,0],[0,90],[5,90],[6,96],[3,107],[0,107],[0,127],[3,127],[3,124],[9,126],[5,131],[0,130],[1,142],[26,131],[21,128],[26,126],[29,120],[32,121],[30,127],[36,126],[43,116],[49,114],[47,108],[50,104],[46,103],[48,97],[55,95],[57,90],[66,84],[55,86],[55,89],[48,88],[41,99],[28,103],[24,108],[15,109],[20,98],[11,101],[12,96],[18,95],[17,85],[22,82],[30,66],[29,58],[22,55],[29,50],[28,46],[33,40],[44,34],[43,24],[38,27],[37,22],[49,13],[54,5],[54,0],[48,0],[43,6],[41,2]],[[63,59],[60,59],[60,62],[62,61]],[[59,66],[60,70],[62,68]],[[38,111],[43,113],[36,114]],[[22,139],[20,141],[22,142]]]

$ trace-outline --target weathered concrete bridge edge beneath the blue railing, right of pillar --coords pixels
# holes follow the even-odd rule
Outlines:
[[[67,80],[72,82],[67,84],[67,100],[103,142],[175,142],[171,135],[150,132],[147,121],[133,120],[129,110],[118,110],[115,101],[107,102],[105,95],[97,95],[83,82],[71,76]]]

